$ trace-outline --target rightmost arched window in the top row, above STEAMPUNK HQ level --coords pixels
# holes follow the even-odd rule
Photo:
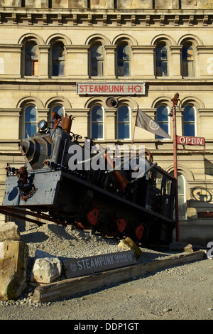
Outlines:
[[[191,43],[182,46],[182,76],[194,76],[194,48]]]

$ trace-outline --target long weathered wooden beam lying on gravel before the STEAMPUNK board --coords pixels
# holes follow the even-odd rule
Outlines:
[[[189,254],[178,254],[169,259],[160,259],[146,264],[133,264],[123,268],[110,269],[97,274],[65,279],[35,288],[33,301],[47,302],[75,296],[77,293],[97,289],[106,284],[114,284],[131,279],[132,277],[141,276],[157,269],[168,266],[193,262],[205,257],[205,252],[197,251]]]

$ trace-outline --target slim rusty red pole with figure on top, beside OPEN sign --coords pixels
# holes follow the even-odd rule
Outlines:
[[[178,162],[177,162],[177,134],[176,134],[176,107],[178,107],[179,94],[176,93],[173,99],[173,107],[169,116],[173,117],[173,158],[174,158],[174,178],[175,178],[175,222],[176,222],[176,241],[180,241],[179,232],[179,211],[178,211]]]

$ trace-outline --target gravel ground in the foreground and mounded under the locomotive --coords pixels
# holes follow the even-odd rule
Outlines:
[[[29,273],[36,249],[60,259],[122,251],[116,239],[104,239],[101,235],[52,224],[21,232],[21,240],[29,247]],[[167,249],[141,247],[141,250],[143,254],[138,263],[177,254]],[[212,259],[170,266],[121,284],[109,284],[48,303],[33,303],[34,288],[28,286],[28,291],[17,301],[0,301],[0,320],[75,320],[73,326],[79,324],[77,320],[86,323],[104,320],[104,325],[115,320],[123,323],[127,320],[133,323],[140,320],[212,320],[212,286]]]

